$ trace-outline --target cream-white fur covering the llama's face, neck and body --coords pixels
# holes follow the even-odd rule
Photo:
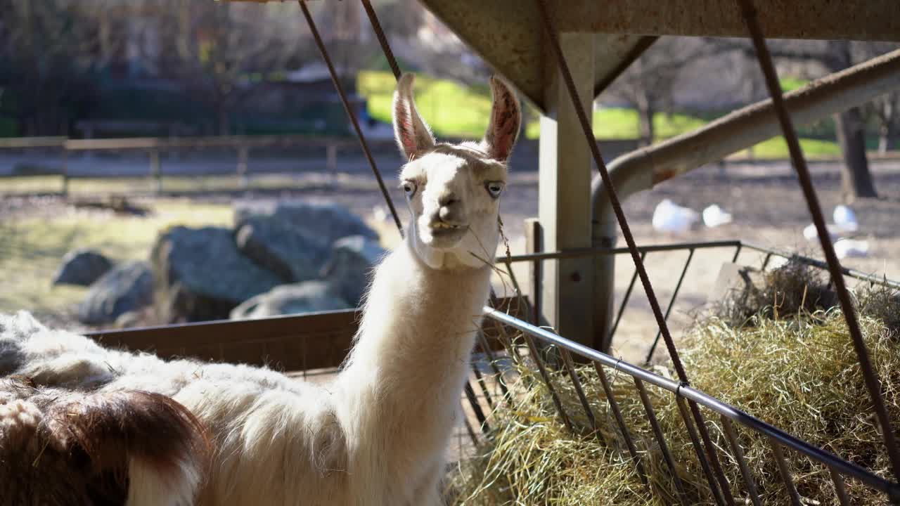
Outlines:
[[[501,85],[492,85],[496,95]],[[411,104],[403,95],[411,77],[398,89],[395,105]],[[516,124],[505,127],[518,132],[518,104],[511,117]],[[405,132],[426,143],[401,174],[417,185],[413,221],[375,270],[355,347],[333,383],[108,350],[23,313],[0,317],[0,367],[4,349],[15,348],[23,358],[15,373],[38,384],[147,390],[181,402],[215,445],[208,484],[197,495],[204,505],[440,504],[446,445],[490,287],[484,261],[499,239],[499,199],[485,185],[505,182],[506,167],[473,147],[435,145],[418,115],[398,135],[410,125],[426,129]],[[505,140],[511,148],[515,138]],[[431,229],[448,191],[458,199],[452,216],[464,225],[449,239]],[[128,503],[186,503],[198,493],[199,473],[186,465],[172,483],[132,460]]]

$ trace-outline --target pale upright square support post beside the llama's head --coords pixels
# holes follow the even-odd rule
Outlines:
[[[563,54],[572,68],[581,106],[591,115],[594,87],[594,35],[561,33]],[[544,248],[559,251],[590,247],[591,156],[572,99],[552,57],[545,61],[545,101],[540,139],[539,219]],[[593,263],[590,258],[546,260],[543,316],[561,335],[594,347]]]

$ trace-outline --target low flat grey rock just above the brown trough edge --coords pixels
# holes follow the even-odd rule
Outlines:
[[[332,291],[328,283],[305,281],[295,285],[275,286],[271,292],[259,294],[231,311],[232,320],[266,318],[280,314],[333,311],[351,306]]]

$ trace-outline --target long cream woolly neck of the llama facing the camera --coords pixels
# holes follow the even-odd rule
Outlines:
[[[419,425],[452,419],[490,276],[490,267],[432,269],[406,243],[394,250],[375,270],[356,346],[339,379],[345,392],[374,395],[380,425],[391,421],[385,416],[407,413]]]

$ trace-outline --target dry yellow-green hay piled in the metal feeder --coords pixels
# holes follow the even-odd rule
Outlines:
[[[795,269],[796,266],[788,265]],[[809,273],[795,270],[802,276]],[[782,281],[785,273],[774,278]],[[779,277],[781,276],[781,277]],[[788,280],[794,284],[796,279]],[[778,286],[772,286],[778,291]],[[809,288],[803,290],[809,293]],[[857,292],[860,326],[892,420],[900,420],[900,339],[896,335],[900,297],[881,288]],[[800,299],[797,299],[800,300]],[[887,454],[872,415],[869,394],[842,313],[793,314],[758,308],[741,327],[722,315],[699,321],[682,348],[691,383],[701,391],[889,477]],[[886,321],[887,320],[887,321]],[[572,382],[563,372],[553,381],[577,434],[558,415],[540,376],[518,364],[512,384],[515,401],[500,403],[491,414],[493,429],[478,456],[461,463],[448,494],[456,504],[677,504],[671,471],[653,438],[632,378],[607,369],[614,394],[635,438],[650,487],[644,486],[628,456],[593,367],[578,374],[597,416],[590,429]],[[647,385],[653,406],[678,465],[690,504],[714,504],[677,402],[668,392]],[[738,503],[750,503],[740,469],[721,429],[718,415],[703,409],[711,438],[719,449]],[[764,504],[788,504],[788,494],[772,459],[769,440],[734,424]],[[895,427],[897,429],[897,427]],[[828,469],[785,451],[797,490],[806,504],[836,504]],[[887,504],[887,499],[856,480],[847,479],[852,504]]]

